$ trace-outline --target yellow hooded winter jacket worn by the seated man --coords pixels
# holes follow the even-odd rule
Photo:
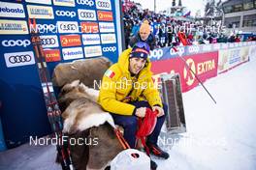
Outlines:
[[[152,81],[151,63],[147,63],[138,78],[132,77],[129,67],[129,55],[132,49],[126,49],[118,62],[105,72],[100,88],[98,102],[109,112],[119,115],[132,115],[135,106],[128,101],[147,100],[153,105],[162,106],[158,90]]]

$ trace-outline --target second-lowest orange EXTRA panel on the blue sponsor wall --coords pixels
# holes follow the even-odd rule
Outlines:
[[[60,36],[61,46],[80,46],[80,35]]]

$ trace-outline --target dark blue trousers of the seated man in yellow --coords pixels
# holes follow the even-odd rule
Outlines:
[[[130,104],[133,104],[134,106],[136,106],[136,108],[140,108],[140,107],[151,108],[151,106],[147,101],[134,101],[134,102],[131,102]],[[152,144],[157,143],[157,139],[160,134],[161,128],[165,122],[165,117],[168,109],[166,104],[163,104],[163,107],[164,107],[165,115],[161,117],[157,117],[156,126],[153,132],[149,136],[147,136],[146,142],[148,143],[152,143]],[[125,140],[128,142],[131,148],[135,148],[138,117],[135,115],[123,116],[123,115],[112,114],[112,118],[113,118],[114,124],[124,128]]]

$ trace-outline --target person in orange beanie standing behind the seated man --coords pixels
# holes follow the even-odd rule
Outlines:
[[[150,50],[155,48],[155,37],[150,33],[150,25],[147,20],[142,23],[139,33],[133,36],[129,42],[129,45],[133,47],[136,42],[146,42],[150,46]]]

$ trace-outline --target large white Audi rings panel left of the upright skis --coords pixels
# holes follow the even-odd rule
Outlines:
[[[5,53],[4,57],[7,68],[35,64],[33,51]]]

